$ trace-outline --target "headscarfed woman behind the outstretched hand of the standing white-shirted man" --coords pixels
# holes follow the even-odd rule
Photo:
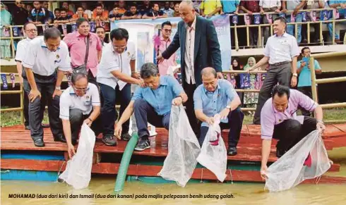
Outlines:
[[[247,60],[246,66],[244,66],[244,70],[249,70],[256,64],[256,59],[253,57],[250,57]],[[244,89],[256,89],[256,84],[258,83],[257,75],[256,74],[250,74],[249,77],[250,80],[250,86],[246,87]],[[246,108],[256,108],[256,104],[258,102],[258,92],[245,92],[244,93],[244,106]],[[249,111],[251,115],[254,115],[255,111]]]

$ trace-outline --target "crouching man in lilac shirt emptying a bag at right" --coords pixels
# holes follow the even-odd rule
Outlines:
[[[316,118],[297,116],[298,107],[314,111]],[[323,111],[315,101],[296,89],[275,85],[272,97],[266,101],[261,111],[262,166],[265,175],[270,154],[271,139],[279,139],[276,156],[281,157],[301,139],[314,130],[326,129]]]

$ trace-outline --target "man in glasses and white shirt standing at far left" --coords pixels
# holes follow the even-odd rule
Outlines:
[[[23,26],[23,29],[25,31],[26,38],[20,40],[17,44],[17,51],[16,51],[16,58],[15,61],[17,63],[17,71],[19,76],[19,82],[23,86],[23,65],[22,62],[24,61],[25,54],[28,51],[28,44],[32,39],[35,39],[37,37],[37,27],[33,23],[25,23]],[[24,96],[24,125],[25,130],[30,130],[30,124],[29,124],[29,99],[27,94],[23,94]],[[45,104],[42,104],[42,108],[44,109]],[[43,128],[49,128],[47,125],[43,125]]]

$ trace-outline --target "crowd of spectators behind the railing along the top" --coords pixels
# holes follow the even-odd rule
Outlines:
[[[178,17],[180,1],[62,1],[54,12],[49,11],[49,1],[33,1],[23,4],[17,0],[9,7],[1,3],[1,58],[13,58],[16,43],[23,39],[23,25],[27,22],[38,26],[38,33],[47,27],[58,27],[62,34],[76,30],[78,18],[88,18],[91,31],[97,26],[109,32],[114,20]],[[93,4],[93,11],[88,6]],[[346,1],[193,1],[193,7],[205,18],[229,14],[232,48],[263,47],[273,35],[273,20],[278,16],[287,19],[287,32],[297,38],[299,44],[328,42],[323,36],[323,25],[328,28],[331,44],[342,44],[342,28],[346,27]],[[311,35],[311,27],[314,32]],[[341,28],[341,30],[340,30]],[[243,35],[246,33],[246,35]],[[333,35],[334,34],[334,35]],[[107,42],[107,38],[106,38]]]

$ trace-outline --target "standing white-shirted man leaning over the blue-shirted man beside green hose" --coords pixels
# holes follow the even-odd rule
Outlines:
[[[103,125],[103,142],[108,146],[116,146],[114,123],[118,115],[115,110],[117,99],[120,101],[121,116],[131,101],[131,84],[143,85],[136,73],[136,49],[128,43],[129,32],[117,28],[110,32],[111,43],[105,47],[98,65],[97,82],[100,85],[103,104],[101,118]],[[129,140],[129,120],[123,124],[121,139]]]

